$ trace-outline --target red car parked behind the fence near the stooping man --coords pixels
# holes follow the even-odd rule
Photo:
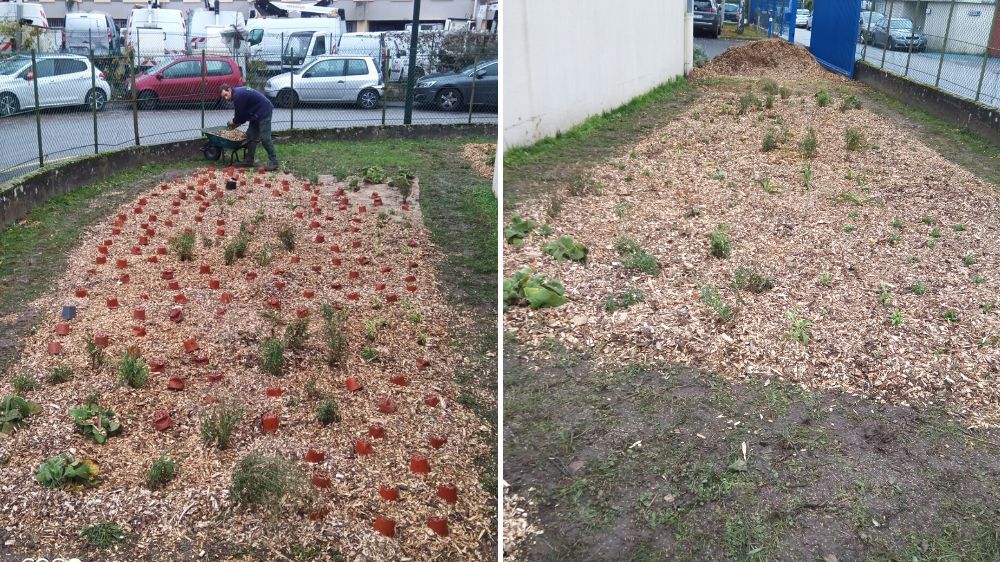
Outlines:
[[[155,109],[160,104],[201,103],[202,74],[205,80],[205,102],[221,101],[219,88],[243,85],[243,76],[236,61],[229,57],[177,57],[164,61],[135,77],[139,107]],[[131,85],[129,85],[131,87]],[[127,92],[126,98],[131,97]]]

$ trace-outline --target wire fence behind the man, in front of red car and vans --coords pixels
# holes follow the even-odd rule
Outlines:
[[[222,84],[267,95],[275,131],[403,124],[408,88],[414,124],[497,120],[491,33],[420,32],[410,80],[409,32],[217,35],[192,49],[158,31],[81,52],[62,30],[34,29],[0,30],[0,182],[66,157],[198,138],[233,116]]]

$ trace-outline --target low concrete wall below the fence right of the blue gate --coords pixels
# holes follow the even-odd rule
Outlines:
[[[858,62],[854,78],[903,102],[927,110],[958,127],[967,127],[1000,144],[1000,109],[959,98],[933,86],[907,80]]]

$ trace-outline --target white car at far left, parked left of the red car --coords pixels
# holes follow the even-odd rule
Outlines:
[[[0,61],[0,116],[35,107],[36,79],[39,107],[83,105],[101,110],[111,97],[111,86],[104,73],[94,69],[91,76],[91,72],[90,61],[77,55],[40,55],[35,72],[31,57],[16,55]]]

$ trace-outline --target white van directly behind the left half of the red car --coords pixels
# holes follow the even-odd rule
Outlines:
[[[125,44],[135,53],[135,65],[149,68],[187,54],[187,34],[180,10],[135,8],[125,26]]]

